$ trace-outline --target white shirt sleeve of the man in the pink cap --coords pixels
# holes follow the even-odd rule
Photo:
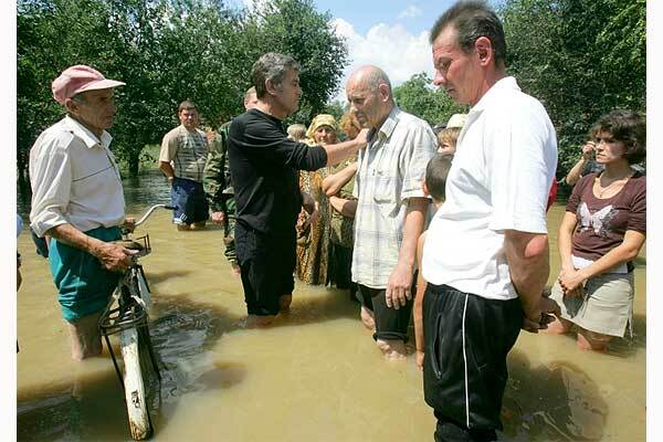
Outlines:
[[[56,225],[69,223],[64,213],[69,206],[72,186],[69,143],[62,143],[57,137],[43,143],[38,151],[30,155],[32,185],[30,227],[38,236],[43,236],[46,231]]]

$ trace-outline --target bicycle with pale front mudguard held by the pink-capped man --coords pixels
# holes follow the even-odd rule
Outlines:
[[[155,204],[136,222],[143,224],[152,212],[164,208],[173,210],[167,204]],[[141,441],[151,436],[154,427],[146,400],[146,378],[151,368],[160,385],[157,357],[151,345],[148,326],[148,314],[151,308],[149,285],[138,259],[151,252],[149,234],[131,239],[128,230],[123,230],[123,239],[115,241],[127,249],[138,251],[131,256],[131,264],[124,272],[117,287],[113,292],[106,308],[99,318],[99,329],[110,352],[115,372],[125,391],[129,429],[134,440]],[[117,305],[115,307],[115,305]],[[124,373],[110,346],[110,335],[119,334],[120,356],[124,360]]]

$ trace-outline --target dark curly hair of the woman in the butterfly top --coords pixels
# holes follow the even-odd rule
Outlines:
[[[642,161],[646,157],[646,120],[644,115],[629,110],[614,109],[603,115],[589,130],[596,138],[607,131],[618,141],[624,144],[623,158],[629,165]]]

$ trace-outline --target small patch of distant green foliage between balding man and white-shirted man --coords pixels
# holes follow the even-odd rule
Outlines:
[[[467,112],[466,106],[455,104],[446,93],[431,87],[432,80],[425,74],[414,74],[393,88],[399,107],[425,119],[431,126],[445,124],[453,114]]]

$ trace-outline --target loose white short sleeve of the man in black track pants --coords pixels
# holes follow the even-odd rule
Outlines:
[[[549,119],[537,110],[526,108],[503,115],[486,133],[492,230],[547,233],[546,202],[557,154]]]

